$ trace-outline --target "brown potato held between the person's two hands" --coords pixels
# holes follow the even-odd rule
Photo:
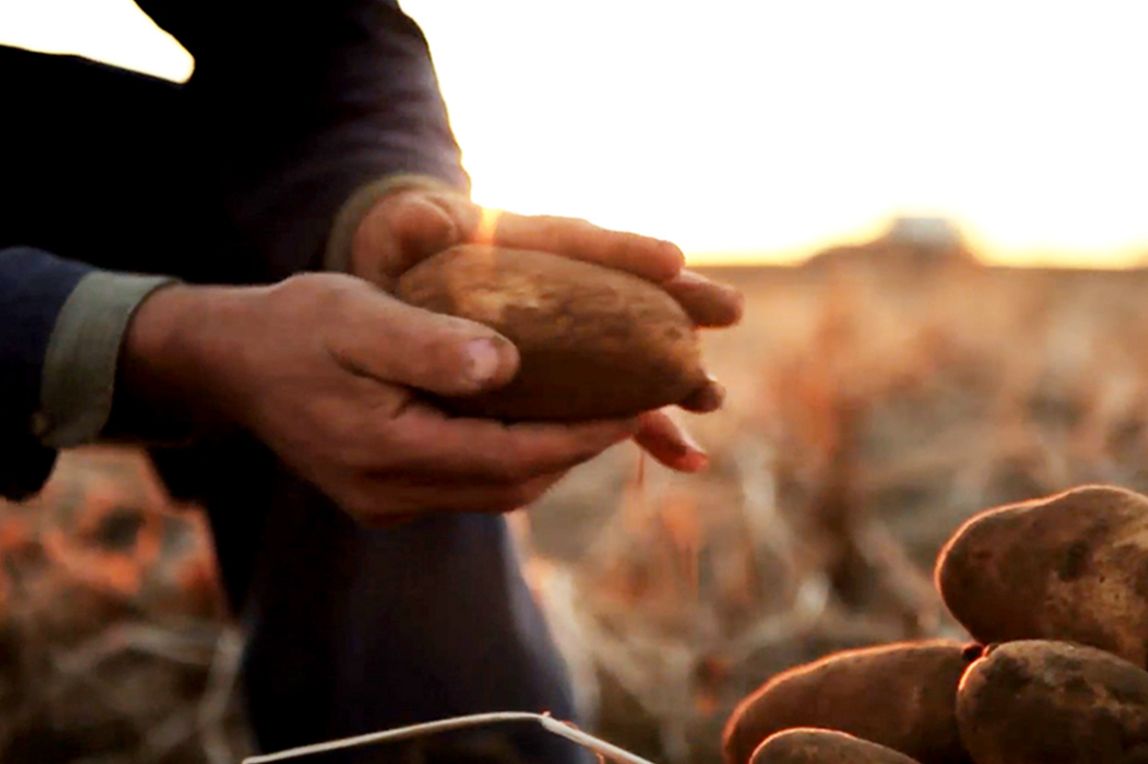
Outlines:
[[[519,350],[504,388],[442,402],[507,421],[631,416],[681,403],[705,382],[697,333],[664,289],[556,255],[453,247],[408,271],[396,296],[486,323]]]

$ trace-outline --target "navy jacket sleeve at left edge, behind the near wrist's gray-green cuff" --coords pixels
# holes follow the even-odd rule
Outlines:
[[[56,317],[91,268],[30,248],[0,250],[0,496],[40,489],[55,451],[33,434],[40,376]]]

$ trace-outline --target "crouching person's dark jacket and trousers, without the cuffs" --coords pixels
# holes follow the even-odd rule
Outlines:
[[[269,282],[318,266],[339,205],[371,179],[468,184],[426,42],[396,3],[139,5],[195,57],[186,85],[0,48],[0,166],[18,189],[0,208],[8,497],[34,492],[51,468],[28,419],[80,263]],[[487,710],[573,716],[501,517],[370,531],[249,439],[154,455],[173,493],[207,507],[249,630],[245,683],[262,749]],[[541,732],[511,740],[525,761],[583,761]]]

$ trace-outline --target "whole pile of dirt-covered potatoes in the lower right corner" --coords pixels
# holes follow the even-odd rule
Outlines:
[[[1148,764],[1148,498],[1089,486],[984,512],[937,585],[976,642],[783,672],[730,718],[727,762]]]

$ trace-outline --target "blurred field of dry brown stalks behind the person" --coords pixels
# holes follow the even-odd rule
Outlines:
[[[773,672],[960,637],[931,566],[974,512],[1148,490],[1148,273],[884,241],[715,275],[748,310],[707,338],[729,388],[690,418],[711,470],[619,447],[514,519],[595,728],[667,763],[718,761],[726,715]],[[238,634],[194,510],[150,481],[77,453],[3,509],[0,759],[238,761]]]

